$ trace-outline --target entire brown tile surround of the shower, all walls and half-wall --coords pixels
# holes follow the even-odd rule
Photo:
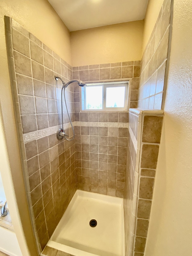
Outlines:
[[[40,252],[76,189],[81,189],[124,197],[126,255],[143,255],[161,137],[169,8],[170,2],[165,1],[141,60],[141,76],[140,60],[72,68],[16,21],[5,17],[18,140]],[[75,140],[57,140],[62,83],[54,79],[55,74],[66,82],[127,81],[128,110],[83,111],[80,87],[73,83],[67,87],[66,98]],[[138,95],[140,110],[129,111],[137,108]],[[144,107],[160,112],[145,112]],[[64,129],[72,137],[65,107]],[[153,141],[149,136],[144,138],[148,132]],[[147,164],[148,158],[155,164]]]

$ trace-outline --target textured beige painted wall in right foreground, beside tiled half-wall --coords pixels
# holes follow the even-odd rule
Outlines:
[[[174,0],[165,118],[146,256],[192,254],[192,2]]]

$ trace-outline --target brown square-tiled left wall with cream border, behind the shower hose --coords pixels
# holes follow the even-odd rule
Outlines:
[[[72,67],[16,21],[5,17],[5,25],[24,178],[41,251],[76,191],[75,143],[56,138],[62,83],[54,79],[71,80]],[[66,98],[74,121],[73,86]],[[66,117],[64,108],[64,124]]]

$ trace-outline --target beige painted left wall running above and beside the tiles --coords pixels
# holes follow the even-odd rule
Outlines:
[[[0,171],[22,254],[36,256],[37,251],[27,208],[14,121],[4,15],[18,21],[68,63],[71,63],[70,36],[68,29],[48,1],[0,1]]]

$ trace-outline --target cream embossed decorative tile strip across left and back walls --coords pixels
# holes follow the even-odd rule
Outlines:
[[[128,128],[128,123],[117,123],[117,122],[72,122],[73,126],[95,126],[95,127],[122,127]],[[63,128],[70,128],[70,123],[63,124]],[[48,127],[38,131],[32,131],[29,133],[23,134],[24,143],[29,142],[31,140],[36,140],[41,137],[56,133],[57,130],[61,128],[61,125],[56,125],[52,127]]]

